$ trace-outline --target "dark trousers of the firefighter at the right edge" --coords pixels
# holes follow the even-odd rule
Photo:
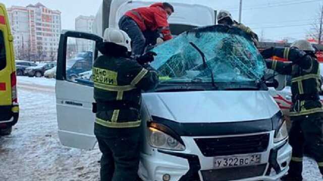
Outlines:
[[[306,144],[323,174],[323,113],[291,117],[289,143],[293,147],[289,174],[302,177],[303,153]]]

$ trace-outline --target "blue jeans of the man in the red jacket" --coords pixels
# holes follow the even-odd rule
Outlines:
[[[138,24],[130,17],[123,16],[119,21],[119,28],[125,31],[132,42],[132,54],[134,56],[142,55],[147,45],[156,44],[159,37],[158,31],[144,31],[142,32]]]

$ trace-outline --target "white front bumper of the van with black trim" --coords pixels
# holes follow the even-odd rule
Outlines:
[[[183,152],[158,150],[155,148],[141,154],[140,177],[145,181],[162,181],[163,175],[169,174],[171,181],[205,181],[202,172],[213,169],[213,157],[205,157],[200,152],[192,137],[182,137],[186,145]],[[268,149],[261,153],[262,165],[265,169],[256,177],[231,179],[236,181],[275,181],[287,173],[291,160],[292,148],[287,140],[279,144],[273,143],[274,132],[271,133]],[[234,174],[234,172],[231,174]]]

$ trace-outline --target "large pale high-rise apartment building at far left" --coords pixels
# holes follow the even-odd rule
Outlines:
[[[61,12],[44,5],[8,9],[14,46],[20,58],[56,60],[61,33]]]

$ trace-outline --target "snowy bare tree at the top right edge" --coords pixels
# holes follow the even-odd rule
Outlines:
[[[320,6],[319,11],[316,13],[315,21],[312,25],[312,29],[308,34],[309,38],[317,40],[318,44],[322,43],[323,40],[323,6]]]

